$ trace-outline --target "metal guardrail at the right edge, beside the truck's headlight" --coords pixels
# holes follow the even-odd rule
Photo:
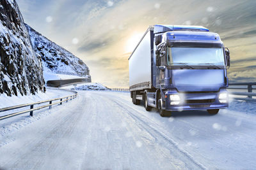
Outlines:
[[[228,87],[228,89],[234,89],[234,90],[247,90],[247,92],[230,92],[232,95],[237,96],[247,96],[247,97],[234,97],[233,99],[236,100],[242,100],[242,101],[255,101],[256,99],[253,99],[253,96],[256,96],[255,92],[252,92],[252,90],[256,90],[256,88],[253,88],[253,86],[256,86],[256,82],[248,82],[248,83],[229,83],[230,86],[240,86],[240,87]],[[245,87],[241,87],[245,86]]]

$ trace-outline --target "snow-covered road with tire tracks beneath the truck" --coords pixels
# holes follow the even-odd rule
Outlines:
[[[256,169],[256,106],[239,104],[163,118],[127,92],[79,91],[2,136],[0,169]]]

